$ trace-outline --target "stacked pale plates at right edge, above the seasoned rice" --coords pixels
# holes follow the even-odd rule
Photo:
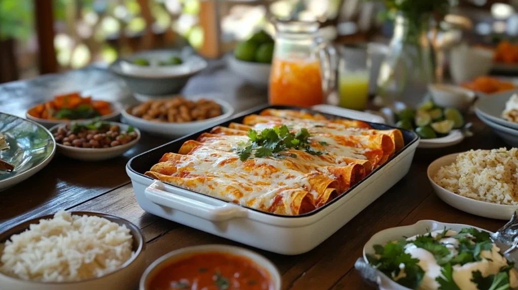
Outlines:
[[[513,95],[500,94],[487,98],[480,98],[474,106],[475,114],[487,126],[499,135],[507,144],[518,147],[518,123],[513,123],[502,118],[502,112],[506,108],[506,102]]]

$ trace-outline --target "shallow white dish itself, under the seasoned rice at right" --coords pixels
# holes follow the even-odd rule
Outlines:
[[[430,180],[431,187],[433,187],[437,193],[437,196],[439,196],[439,198],[445,203],[462,211],[471,213],[472,215],[499,220],[511,219],[514,211],[518,209],[518,206],[473,200],[469,197],[458,195],[446,190],[435,183],[433,176],[435,176],[442,166],[452,164],[457,158],[457,155],[458,153],[443,156],[428,166],[428,179]]]

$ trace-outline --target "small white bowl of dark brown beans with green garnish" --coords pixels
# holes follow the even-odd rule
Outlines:
[[[140,139],[140,131],[122,123],[109,121],[75,121],[52,127],[50,132],[62,155],[84,161],[118,157]]]

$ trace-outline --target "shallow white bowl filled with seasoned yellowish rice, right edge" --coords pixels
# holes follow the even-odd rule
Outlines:
[[[445,203],[473,215],[509,220],[518,209],[518,149],[470,150],[428,166],[428,179]]]

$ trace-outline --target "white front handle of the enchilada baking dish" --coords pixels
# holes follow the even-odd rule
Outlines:
[[[146,188],[144,195],[154,204],[188,212],[191,215],[209,221],[226,221],[247,215],[246,209],[235,204],[217,200],[210,201],[214,204],[209,204],[201,200],[194,200],[190,197],[175,194],[168,191],[164,184],[158,180],[153,181],[153,183]],[[206,196],[200,197],[202,197],[202,199],[210,198]]]

